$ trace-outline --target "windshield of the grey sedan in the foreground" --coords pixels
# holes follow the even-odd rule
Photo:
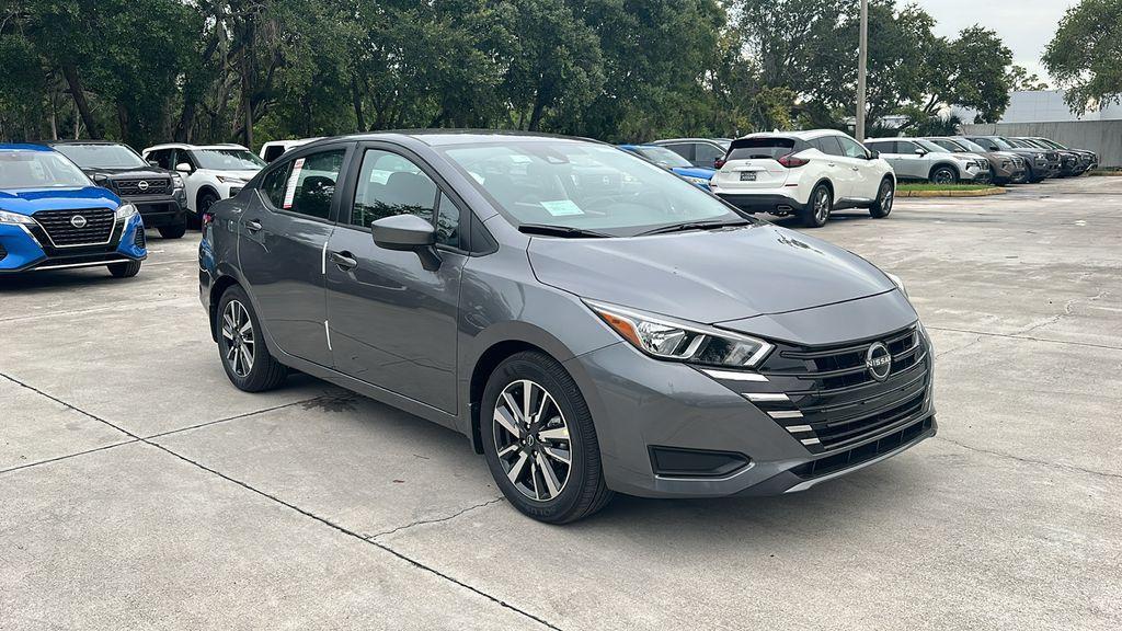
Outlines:
[[[614,147],[541,140],[441,149],[515,226],[616,237],[682,222],[744,222],[697,186]]]

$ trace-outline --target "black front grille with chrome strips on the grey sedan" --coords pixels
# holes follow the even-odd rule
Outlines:
[[[866,364],[882,342],[892,357],[877,381]],[[891,431],[921,414],[931,381],[928,345],[917,327],[881,339],[829,347],[779,344],[760,374],[766,383],[744,396],[813,452],[842,449]],[[744,386],[739,391],[744,391]]]

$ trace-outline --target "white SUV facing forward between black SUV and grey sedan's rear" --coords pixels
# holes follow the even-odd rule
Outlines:
[[[241,145],[168,144],[148,147],[141,154],[146,161],[183,175],[195,227],[214,202],[237,195],[265,166],[265,161]]]

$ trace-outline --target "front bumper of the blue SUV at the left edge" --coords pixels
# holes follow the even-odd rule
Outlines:
[[[108,241],[66,246],[56,246],[40,223],[0,223],[0,274],[94,267],[142,260],[147,256],[139,214],[123,222],[114,221]]]

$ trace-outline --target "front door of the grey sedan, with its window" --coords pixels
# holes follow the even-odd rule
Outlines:
[[[392,146],[361,156],[328,244],[328,318],[335,369],[456,413],[457,308],[467,262],[460,207],[420,161]],[[441,265],[374,244],[370,223],[412,213],[436,226]]]

